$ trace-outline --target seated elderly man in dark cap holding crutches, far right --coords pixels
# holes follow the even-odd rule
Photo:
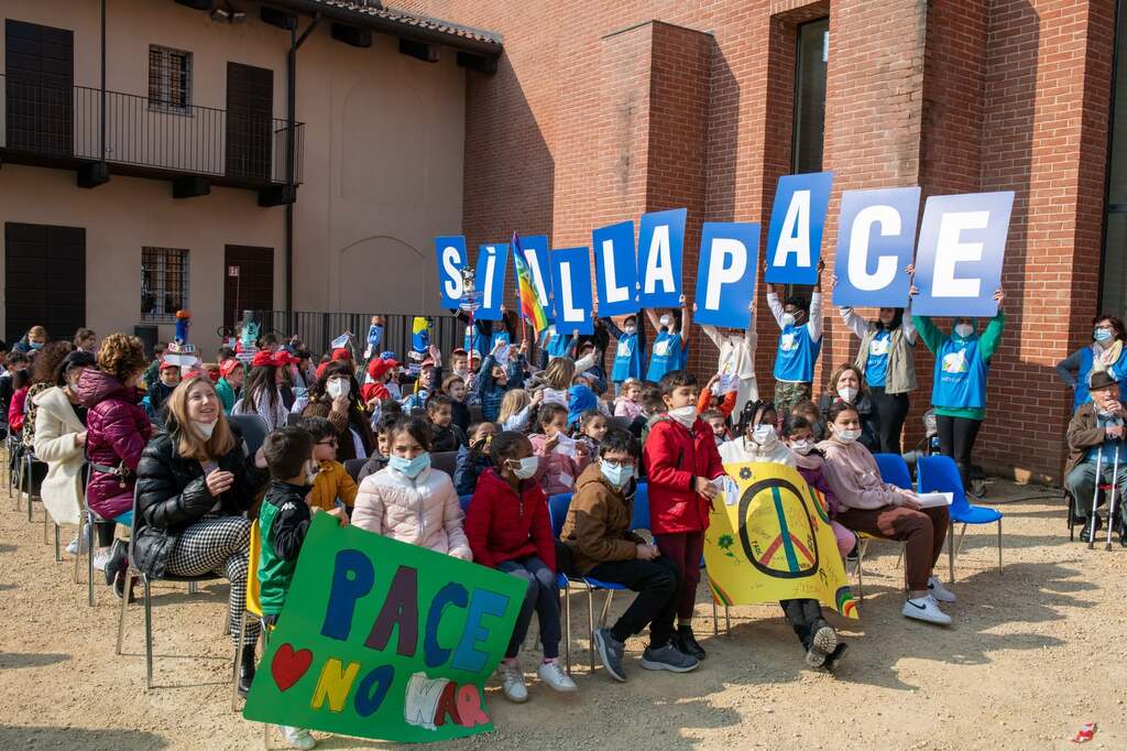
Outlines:
[[[1074,500],[1073,516],[1084,525],[1080,539],[1089,542],[1102,525],[1099,514],[1092,509],[1092,496],[1099,481],[1110,485],[1115,471],[1116,454],[1119,459],[1119,475],[1116,477],[1113,491],[1119,501],[1116,502],[1118,520],[1111,523],[1120,524],[1119,544],[1122,538],[1122,520],[1127,518],[1122,509],[1122,494],[1127,487],[1127,438],[1124,422],[1127,409],[1119,401],[1119,383],[1107,371],[1097,371],[1091,376],[1089,391],[1092,400],[1080,405],[1072,422],[1068,423],[1068,462],[1065,466],[1065,484]],[[1100,465],[1099,478],[1095,466]],[[1111,491],[1109,491],[1110,493]],[[1101,500],[1102,503],[1102,500]]]

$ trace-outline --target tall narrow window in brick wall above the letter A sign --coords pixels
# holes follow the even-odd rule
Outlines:
[[[829,19],[819,18],[799,26],[798,55],[795,65],[792,173],[822,171],[828,63]]]

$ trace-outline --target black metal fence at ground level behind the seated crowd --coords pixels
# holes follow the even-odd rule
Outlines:
[[[255,310],[252,312],[255,323],[258,324],[260,334],[273,332],[279,337],[296,336],[309,348],[314,356],[327,352],[329,343],[350,332],[357,347],[357,354],[364,355],[367,346],[367,328],[372,323],[373,313],[335,313],[335,312],[311,312],[294,311],[286,313],[284,310]],[[394,352],[400,360],[407,356],[411,350],[411,334],[415,316],[390,315],[387,319],[382,351]],[[450,355],[451,350],[462,346],[465,335],[464,325],[454,316],[429,316],[431,342],[442,351],[443,357]]]

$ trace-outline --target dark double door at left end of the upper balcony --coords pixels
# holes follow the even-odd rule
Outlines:
[[[71,156],[74,33],[7,19],[5,65],[9,149]]]

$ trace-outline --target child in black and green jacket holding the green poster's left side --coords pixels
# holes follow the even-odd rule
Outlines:
[[[327,422],[327,421],[325,421]],[[329,425],[331,428],[331,425]],[[321,511],[309,506],[305,495],[311,491],[314,471],[313,441],[299,427],[279,427],[263,443],[270,484],[258,509],[260,554],[258,591],[263,608],[263,625],[273,629],[290,593],[298,567],[298,556],[305,542],[312,514]],[[347,524],[341,509],[325,511]],[[282,735],[295,749],[312,749],[317,741],[302,727],[282,725]]]

